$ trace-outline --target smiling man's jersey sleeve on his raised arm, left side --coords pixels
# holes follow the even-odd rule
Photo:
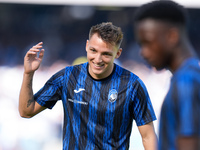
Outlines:
[[[34,95],[38,104],[52,109],[56,102],[61,99],[64,71],[65,69],[54,74]]]

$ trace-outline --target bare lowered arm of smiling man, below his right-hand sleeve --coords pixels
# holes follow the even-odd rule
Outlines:
[[[145,150],[157,150],[157,136],[153,122],[138,127]]]

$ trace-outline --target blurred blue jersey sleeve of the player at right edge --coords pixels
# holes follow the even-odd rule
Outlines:
[[[200,135],[200,84],[192,76],[182,75],[172,86],[174,114],[177,115],[180,136]]]

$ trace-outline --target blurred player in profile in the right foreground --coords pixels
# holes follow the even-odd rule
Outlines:
[[[200,149],[200,61],[187,35],[186,9],[173,1],[141,6],[134,19],[141,55],[173,77],[161,109],[160,150]]]

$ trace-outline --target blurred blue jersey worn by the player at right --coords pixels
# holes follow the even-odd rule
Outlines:
[[[176,150],[177,138],[200,137],[200,61],[186,60],[174,73],[160,117],[159,150]]]

